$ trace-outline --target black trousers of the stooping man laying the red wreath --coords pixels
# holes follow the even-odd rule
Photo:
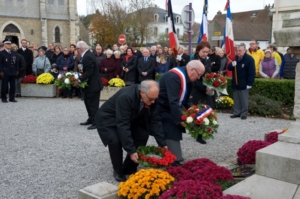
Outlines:
[[[134,126],[131,128],[131,137],[135,148],[138,148],[139,146],[146,146],[149,133],[146,128],[142,126]],[[137,171],[139,164],[136,164],[130,159],[130,154],[126,155],[123,163],[123,149],[118,134],[116,134],[116,136],[108,143],[108,150],[113,169],[119,175],[123,175],[124,173],[134,173]]]

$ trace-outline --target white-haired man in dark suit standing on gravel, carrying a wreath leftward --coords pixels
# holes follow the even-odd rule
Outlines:
[[[96,62],[95,55],[89,50],[89,46],[84,41],[79,41],[76,45],[78,54],[81,56],[78,63],[79,72],[82,71],[82,75],[78,78],[78,81],[74,82],[75,87],[79,82],[87,81],[88,86],[83,89],[84,104],[89,118],[86,122],[80,123],[80,125],[89,125],[89,130],[96,129],[94,117],[99,108],[100,91],[103,88],[100,81],[100,74]]]

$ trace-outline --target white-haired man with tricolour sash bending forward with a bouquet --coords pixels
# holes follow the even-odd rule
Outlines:
[[[168,149],[176,155],[174,165],[183,161],[180,140],[185,132],[181,120],[182,107],[189,108],[193,82],[204,74],[205,68],[199,60],[190,61],[186,67],[176,67],[159,78],[159,116],[162,121]],[[186,85],[186,86],[185,86]]]

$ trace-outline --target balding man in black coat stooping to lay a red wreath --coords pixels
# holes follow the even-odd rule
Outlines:
[[[148,130],[160,147],[166,146],[155,102],[158,93],[155,81],[142,81],[140,85],[122,88],[96,114],[97,130],[103,144],[108,145],[117,181],[125,181],[126,174],[137,171],[136,149],[147,144]],[[127,152],[124,163],[122,148]]]

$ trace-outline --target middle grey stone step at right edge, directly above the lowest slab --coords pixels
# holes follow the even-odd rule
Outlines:
[[[256,152],[256,174],[300,184],[300,144],[276,142]]]

